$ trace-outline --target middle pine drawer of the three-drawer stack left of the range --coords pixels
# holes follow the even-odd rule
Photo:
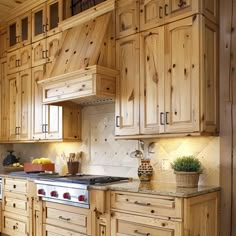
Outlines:
[[[5,192],[2,207],[4,211],[29,216],[28,201],[27,197],[24,195]]]

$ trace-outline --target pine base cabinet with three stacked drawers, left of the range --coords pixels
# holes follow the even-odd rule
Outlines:
[[[33,182],[14,177],[3,178],[2,233],[4,235],[39,236],[33,234],[34,192],[36,193],[36,188]]]

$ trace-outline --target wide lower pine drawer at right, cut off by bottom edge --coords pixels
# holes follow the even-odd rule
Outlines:
[[[111,218],[112,236],[174,236],[182,235],[180,222],[160,220],[132,214],[115,212]]]

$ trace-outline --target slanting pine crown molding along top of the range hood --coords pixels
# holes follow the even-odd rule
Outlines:
[[[59,23],[59,29],[62,31],[70,29],[74,26],[93,20],[96,17],[106,14],[114,9],[115,1],[107,0]]]

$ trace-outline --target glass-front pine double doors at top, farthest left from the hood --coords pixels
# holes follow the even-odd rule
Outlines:
[[[31,12],[8,22],[8,50],[14,50],[31,43]]]

